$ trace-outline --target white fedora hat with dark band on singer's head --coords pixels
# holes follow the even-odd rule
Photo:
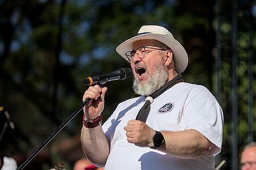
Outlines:
[[[188,54],[174,36],[166,28],[158,25],[143,25],[136,36],[117,46],[117,53],[127,61],[125,53],[133,49],[133,43],[138,40],[158,40],[166,44],[174,53],[177,73],[182,73],[188,65]]]

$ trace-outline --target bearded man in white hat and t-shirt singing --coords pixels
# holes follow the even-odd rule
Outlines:
[[[214,169],[221,151],[223,113],[203,86],[184,82],[183,46],[164,27],[144,25],[117,47],[130,62],[133,90],[101,125],[107,88],[90,86],[83,100],[81,142],[86,157],[105,169]]]

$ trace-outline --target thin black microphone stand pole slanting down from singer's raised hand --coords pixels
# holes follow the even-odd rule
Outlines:
[[[23,169],[33,158],[35,158],[35,156],[60,132],[60,130],[62,130],[82,110],[82,108],[84,108],[84,106],[90,100],[92,99],[86,99],[84,103],[82,103],[80,107],[76,109],[76,111],[73,112],[71,116],[69,116],[67,120],[65,120],[63,124],[61,124],[60,127],[57,128],[48,139],[46,139],[46,141],[44,141],[38,148],[36,148],[36,150],[27,158],[27,160],[22,165],[20,165],[16,170]]]

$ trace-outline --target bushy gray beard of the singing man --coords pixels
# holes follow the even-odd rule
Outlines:
[[[155,70],[155,73],[151,76],[148,76],[148,81],[141,85],[139,84],[139,80],[133,79],[133,90],[135,94],[148,96],[154,94],[154,92],[158,91],[161,87],[164,86],[168,79],[168,72],[165,69],[164,65],[160,63]]]

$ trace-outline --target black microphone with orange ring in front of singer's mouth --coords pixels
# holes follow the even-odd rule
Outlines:
[[[103,85],[106,82],[110,82],[113,80],[124,80],[126,78],[129,78],[131,74],[132,74],[131,69],[128,67],[125,67],[125,68],[115,70],[111,73],[97,75],[93,77],[89,76],[88,78],[82,80],[82,85],[83,86],[85,85],[92,86],[94,84]]]

